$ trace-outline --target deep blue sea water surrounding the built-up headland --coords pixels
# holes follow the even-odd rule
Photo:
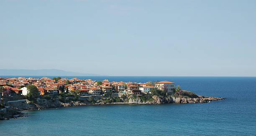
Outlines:
[[[199,95],[227,99],[195,104],[99,105],[26,111],[28,117],[0,121],[0,136],[256,136],[256,77],[78,78],[124,82],[167,80]]]

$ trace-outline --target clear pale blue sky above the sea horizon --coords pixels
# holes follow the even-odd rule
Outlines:
[[[0,0],[0,69],[256,76],[256,0]]]

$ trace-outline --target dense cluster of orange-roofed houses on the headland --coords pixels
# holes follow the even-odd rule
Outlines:
[[[175,83],[161,81],[157,83],[136,83],[136,82],[110,82],[107,79],[97,82],[91,79],[80,80],[78,78],[61,78],[58,81],[51,78],[0,78],[0,86],[9,89],[12,95],[26,95],[26,86],[34,85],[38,88],[38,96],[57,95],[61,92],[79,93],[80,96],[97,96],[103,93],[126,93],[141,95],[150,93],[152,89],[166,90],[168,93],[174,91]]]

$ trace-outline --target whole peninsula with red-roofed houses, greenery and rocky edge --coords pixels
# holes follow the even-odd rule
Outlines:
[[[0,78],[0,120],[23,110],[98,104],[207,103],[225,98],[200,96],[170,81],[110,82],[78,78]]]

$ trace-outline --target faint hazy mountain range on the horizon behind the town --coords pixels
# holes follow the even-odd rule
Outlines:
[[[99,74],[77,73],[58,69],[0,69],[0,76],[103,76]]]

